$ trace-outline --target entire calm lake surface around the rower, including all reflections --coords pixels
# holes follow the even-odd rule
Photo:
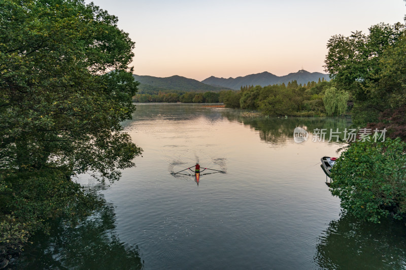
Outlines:
[[[404,225],[341,215],[320,168],[340,143],[295,143],[293,130],[344,129],[345,119],[243,119],[200,104],[138,104],[123,123],[144,149],[137,167],[97,188],[106,208],[77,228],[37,236],[16,268],[394,269]],[[192,176],[194,166],[224,170]],[[206,171],[207,172],[207,171]]]

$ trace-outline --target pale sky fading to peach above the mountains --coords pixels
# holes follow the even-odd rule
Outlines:
[[[87,3],[90,1],[86,0]],[[324,72],[335,34],[404,22],[403,0],[94,0],[136,42],[134,73],[202,81]]]

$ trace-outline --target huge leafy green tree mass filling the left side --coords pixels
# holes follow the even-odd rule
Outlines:
[[[82,0],[0,5],[0,230],[17,251],[41,220],[92,209],[71,175],[118,179],[142,151],[120,125],[138,83],[117,21]]]

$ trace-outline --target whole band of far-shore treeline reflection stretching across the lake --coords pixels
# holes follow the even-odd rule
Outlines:
[[[351,124],[350,119],[333,117],[243,118],[241,117],[243,111],[245,110],[205,108],[202,104],[138,104],[138,109],[133,114],[135,121],[129,120],[122,125],[128,128],[156,118],[169,121],[196,121],[204,117],[211,123],[226,118],[228,121],[237,121],[257,130],[263,141],[282,144],[293,139],[293,130],[296,127],[303,127],[309,133],[313,133],[315,129],[326,129],[327,141],[330,129],[335,132],[338,128],[342,132],[340,138],[343,139],[345,128]]]

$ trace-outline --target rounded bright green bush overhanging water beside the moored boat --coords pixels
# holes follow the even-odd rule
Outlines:
[[[331,194],[358,218],[379,222],[406,214],[406,144],[400,139],[356,142],[333,166]]]

